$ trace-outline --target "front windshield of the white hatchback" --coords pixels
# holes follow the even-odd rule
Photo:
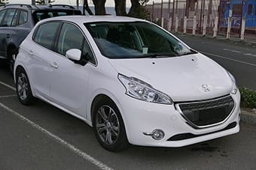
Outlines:
[[[163,58],[194,54],[175,37],[148,22],[84,24],[108,58]]]

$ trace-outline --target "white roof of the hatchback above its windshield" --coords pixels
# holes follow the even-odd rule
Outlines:
[[[145,21],[144,19],[137,19],[128,16],[57,16],[44,21],[49,20],[66,20],[69,22],[136,22]]]

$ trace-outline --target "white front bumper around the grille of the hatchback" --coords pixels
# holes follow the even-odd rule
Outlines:
[[[238,133],[239,91],[236,94],[230,94],[230,96],[236,104],[227,120],[215,126],[197,129],[187,124],[187,121],[174,105],[147,103],[125,95],[119,100],[119,104],[126,127],[127,139],[133,145],[175,148]],[[151,133],[156,129],[163,130],[165,134],[163,139],[155,140],[151,136],[145,135],[145,133]],[[173,136],[182,134],[191,135],[187,139],[172,140]]]

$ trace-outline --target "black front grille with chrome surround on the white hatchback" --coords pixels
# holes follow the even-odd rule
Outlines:
[[[205,127],[224,121],[233,111],[234,101],[228,95],[215,100],[179,103],[181,115],[194,127]]]

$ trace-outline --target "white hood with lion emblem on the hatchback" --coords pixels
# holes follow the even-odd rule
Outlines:
[[[141,79],[176,102],[220,97],[233,88],[227,71],[200,53],[173,58],[109,59],[109,62],[117,73]]]

